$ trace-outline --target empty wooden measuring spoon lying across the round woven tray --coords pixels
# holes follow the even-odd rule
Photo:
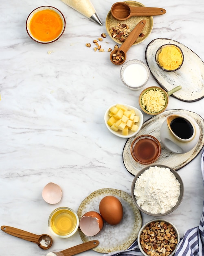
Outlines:
[[[131,16],[153,16],[165,14],[166,10],[157,7],[131,7],[125,2],[116,2],[111,7],[111,14],[116,20],[127,20]]]

